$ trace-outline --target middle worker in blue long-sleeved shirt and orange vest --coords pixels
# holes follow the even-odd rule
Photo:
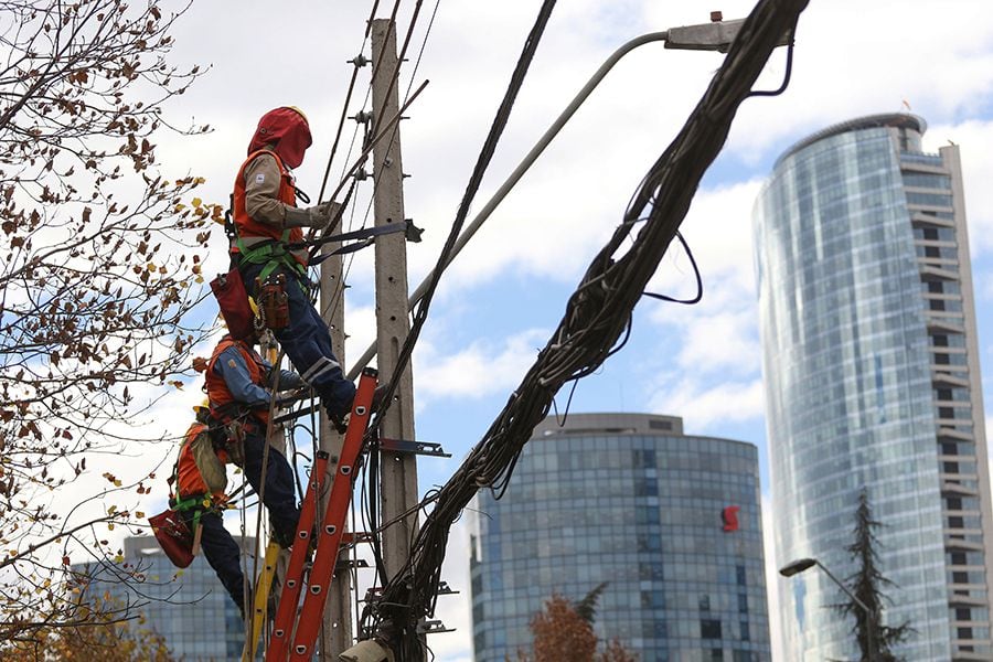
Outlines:
[[[221,339],[205,366],[207,399],[211,417],[226,428],[232,461],[243,468],[248,483],[261,495],[269,511],[273,536],[286,548],[292,545],[300,510],[293,492],[293,472],[286,456],[269,446],[265,457],[269,404],[274,397],[266,386],[273,366],[255,351],[254,342],[254,338],[235,340],[225,335]],[[303,382],[296,373],[280,371],[280,389],[301,386]]]

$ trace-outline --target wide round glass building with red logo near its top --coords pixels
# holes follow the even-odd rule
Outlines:
[[[595,631],[642,662],[770,660],[755,446],[681,418],[549,417],[500,500],[473,505],[476,662],[531,651],[552,595],[607,583]]]

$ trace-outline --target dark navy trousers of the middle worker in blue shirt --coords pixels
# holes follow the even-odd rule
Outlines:
[[[300,509],[297,508],[293,470],[286,457],[269,447],[266,467],[266,489],[261,490],[263,455],[266,451],[265,426],[245,435],[245,478],[256,494],[263,495],[263,503],[269,511],[269,523],[276,534],[290,544],[297,536]]]

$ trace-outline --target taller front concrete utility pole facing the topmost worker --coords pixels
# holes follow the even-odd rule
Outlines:
[[[389,20],[377,19],[372,26],[372,53],[375,75],[372,82],[373,117],[383,121],[398,108],[396,28]],[[381,140],[373,149],[374,211],[376,227],[404,222],[403,163],[401,161],[399,125],[393,139]],[[388,380],[397,365],[399,349],[410,331],[407,313],[407,245],[404,233],[376,237],[376,354],[380,378]],[[397,399],[381,426],[385,439],[414,439],[414,375],[410,366],[403,372],[395,391]],[[383,450],[381,522],[391,525],[383,531],[383,560],[391,579],[410,555],[410,541],[417,533],[417,514],[403,516],[417,500],[417,462],[414,453]]]

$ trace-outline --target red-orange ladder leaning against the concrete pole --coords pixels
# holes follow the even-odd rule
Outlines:
[[[282,592],[276,609],[273,637],[266,651],[266,662],[285,662],[288,653],[291,660],[310,660],[321,626],[321,617],[328,597],[328,587],[338,563],[338,553],[344,532],[345,517],[352,501],[352,481],[355,462],[362,451],[362,442],[369,426],[373,394],[376,389],[377,372],[365,369],[359,380],[355,401],[349,417],[348,429],[342,444],[341,456],[331,483],[331,495],[320,528],[316,532],[313,565],[307,578],[307,596],[297,617],[297,605],[303,585],[303,569],[310,554],[311,532],[317,519],[317,499],[323,493],[327,476],[328,455],[319,453],[308,482],[307,496],[300,511],[300,524],[290,553]],[[295,627],[296,621],[296,627]],[[255,640],[257,634],[253,632]],[[292,638],[292,648],[289,642]]]

